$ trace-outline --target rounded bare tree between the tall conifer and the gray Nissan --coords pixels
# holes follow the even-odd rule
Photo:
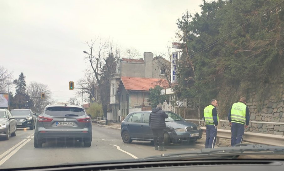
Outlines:
[[[41,93],[45,93],[44,99],[39,98]],[[36,112],[41,112],[47,104],[54,103],[51,90],[48,89],[46,84],[30,82],[27,86],[27,94],[33,101],[33,107]]]

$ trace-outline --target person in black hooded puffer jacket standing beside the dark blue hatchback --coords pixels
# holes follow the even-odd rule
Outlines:
[[[166,128],[165,118],[168,117],[169,116],[162,110],[162,105],[160,104],[157,105],[157,108],[153,108],[152,112],[150,113],[149,126],[154,136],[155,150],[166,151],[166,149],[163,147],[163,140],[164,129]]]

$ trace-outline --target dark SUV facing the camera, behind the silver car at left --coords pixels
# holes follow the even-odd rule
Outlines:
[[[29,128],[33,130],[35,128],[36,116],[30,109],[13,109],[11,113],[16,118],[17,128]]]

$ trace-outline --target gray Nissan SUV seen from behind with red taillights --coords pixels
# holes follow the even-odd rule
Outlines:
[[[35,123],[34,147],[49,140],[81,140],[91,147],[92,122],[84,108],[68,104],[47,105]]]

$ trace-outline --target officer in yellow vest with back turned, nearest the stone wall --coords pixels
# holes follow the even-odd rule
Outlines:
[[[247,99],[242,97],[238,103],[234,103],[229,109],[228,120],[231,128],[231,146],[242,143],[244,128],[249,125],[249,107],[246,105]]]

